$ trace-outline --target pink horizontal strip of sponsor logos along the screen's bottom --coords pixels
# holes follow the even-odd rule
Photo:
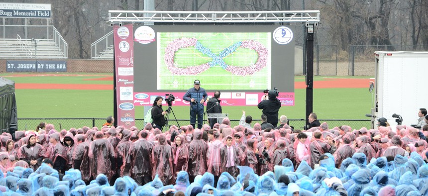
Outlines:
[[[166,94],[173,94],[175,100],[172,102],[173,105],[189,105],[189,101],[183,100],[183,96],[186,92],[174,92],[174,93],[139,93],[135,92],[133,96],[133,103],[135,106],[138,105],[152,105],[153,101],[157,96],[161,96],[164,100],[162,104],[167,105],[165,102]],[[214,92],[207,92],[208,97],[211,98],[214,96]],[[226,95],[223,97],[223,94]],[[224,92],[220,96],[220,104],[233,105],[233,106],[243,106],[243,105],[257,105],[260,101],[263,100],[264,93],[250,93],[250,92]],[[281,101],[281,105],[284,106],[293,106],[294,105],[294,93],[280,93],[277,97]],[[205,105],[207,102],[205,102]]]

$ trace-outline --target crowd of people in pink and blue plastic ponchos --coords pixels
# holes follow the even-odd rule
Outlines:
[[[230,120],[35,131],[0,136],[0,195],[10,196],[426,196],[428,125],[422,130],[309,130]]]

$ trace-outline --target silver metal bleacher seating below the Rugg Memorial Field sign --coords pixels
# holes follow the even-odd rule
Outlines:
[[[35,46],[37,43],[37,47]],[[53,39],[0,39],[0,58],[4,59],[66,59],[67,55]]]

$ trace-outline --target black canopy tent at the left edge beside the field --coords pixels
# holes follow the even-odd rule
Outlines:
[[[17,129],[15,82],[0,77],[0,133],[8,132],[13,137]]]

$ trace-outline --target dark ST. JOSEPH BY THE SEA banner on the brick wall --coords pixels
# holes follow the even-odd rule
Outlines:
[[[67,61],[6,61],[6,72],[67,72]]]

